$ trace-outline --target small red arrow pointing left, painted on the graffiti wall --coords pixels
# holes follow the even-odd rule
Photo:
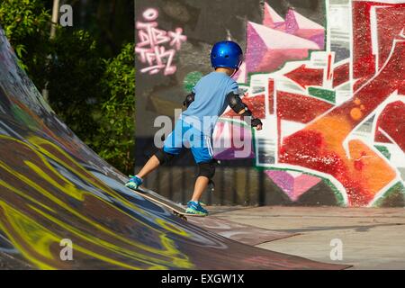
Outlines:
[[[323,69],[312,69],[306,67],[305,64],[284,74],[284,76],[301,85],[304,89],[311,85],[321,86],[323,83]]]

